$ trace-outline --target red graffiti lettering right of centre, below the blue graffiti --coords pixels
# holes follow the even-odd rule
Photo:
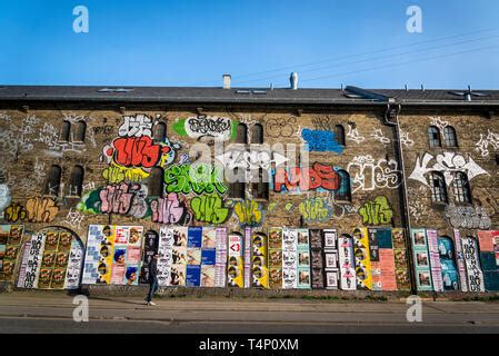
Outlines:
[[[312,167],[277,168],[273,190],[277,192],[302,192],[315,189],[337,190],[340,177],[332,166],[313,164]]]

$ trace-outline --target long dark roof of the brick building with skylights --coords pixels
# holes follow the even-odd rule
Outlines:
[[[0,101],[499,106],[499,90],[0,86]]]

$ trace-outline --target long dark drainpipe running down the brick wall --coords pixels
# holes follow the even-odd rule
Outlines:
[[[390,113],[395,110],[395,122],[390,120]],[[411,294],[417,294],[416,288],[416,276],[415,276],[415,261],[413,261],[413,254],[412,254],[412,244],[410,239],[410,229],[411,229],[411,222],[410,222],[410,215],[409,215],[409,200],[407,195],[407,187],[406,187],[406,165],[403,161],[403,148],[402,142],[400,141],[400,125],[399,125],[399,113],[402,110],[402,106],[399,103],[395,108],[392,105],[388,103],[387,111],[385,112],[385,123],[388,126],[391,126],[395,128],[395,151],[398,161],[400,162],[400,172],[401,172],[401,192],[402,192],[402,199],[400,199],[401,208],[402,208],[402,225],[405,230],[405,239],[406,239],[406,254],[409,259],[409,277],[410,277],[410,286],[411,286]]]

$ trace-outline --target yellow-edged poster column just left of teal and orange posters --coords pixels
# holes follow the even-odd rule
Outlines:
[[[357,289],[371,290],[371,260],[367,228],[353,230],[353,256],[356,264]]]

